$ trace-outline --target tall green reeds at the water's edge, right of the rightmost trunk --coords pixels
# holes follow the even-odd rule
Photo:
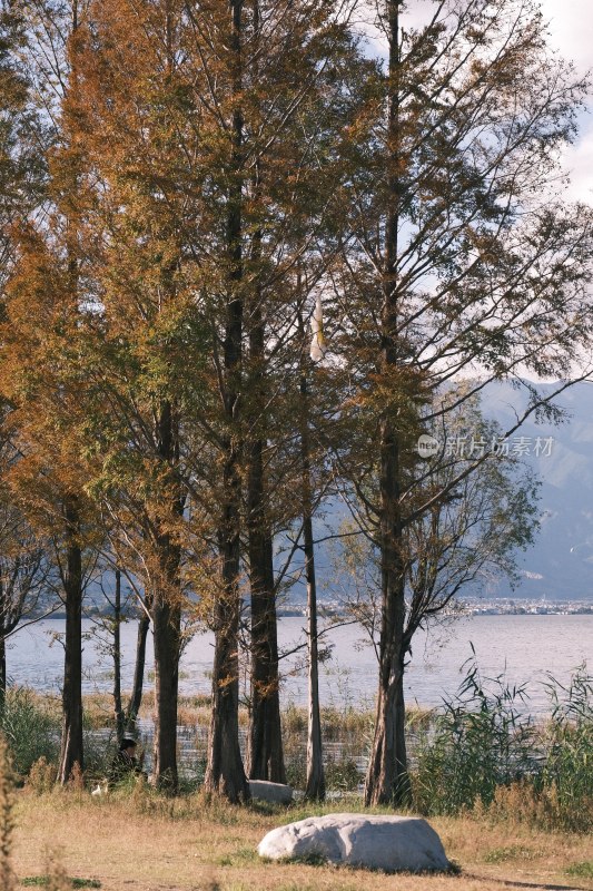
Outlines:
[[[526,711],[524,687],[481,676],[475,656],[457,694],[421,735],[414,805],[424,814],[488,811],[547,829],[593,828],[593,676],[546,684],[548,718]]]

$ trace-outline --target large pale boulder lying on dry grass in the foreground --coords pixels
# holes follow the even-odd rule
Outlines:
[[[270,860],[312,856],[386,872],[449,866],[441,839],[416,816],[309,816],[268,832],[257,852]]]

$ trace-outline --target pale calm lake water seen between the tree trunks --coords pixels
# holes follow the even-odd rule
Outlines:
[[[101,653],[93,637],[93,623],[86,619],[83,669],[85,692],[109,691],[109,657]],[[305,619],[287,617],[279,621],[278,639],[283,650],[303,643]],[[11,638],[7,654],[8,674],[12,682],[58,693],[63,666],[63,649],[56,638],[63,621],[51,619],[19,629]],[[134,668],[136,623],[127,623],[122,637],[122,687],[129,688]],[[362,643],[363,634],[355,626],[333,628],[326,643],[332,657],[322,666],[320,695],[325,705],[372,706],[376,691],[377,666],[370,646]],[[202,634],[189,642],[181,659],[182,693],[209,693],[213,660],[213,635]],[[530,711],[546,708],[542,686],[545,673],[565,683],[572,669],[587,662],[593,668],[593,615],[582,616],[472,616],[455,619],[446,627],[428,634],[418,631],[413,658],[406,673],[406,698],[421,706],[435,706],[443,696],[455,693],[463,673],[463,663],[472,656],[472,645],[484,677],[505,673],[511,684],[527,684]],[[152,646],[148,642],[147,668],[151,668]],[[283,659],[281,697],[284,704],[303,705],[307,696],[307,678],[303,668],[304,652]],[[148,675],[147,686],[151,686]]]

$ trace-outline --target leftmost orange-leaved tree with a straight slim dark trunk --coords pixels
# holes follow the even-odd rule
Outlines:
[[[83,768],[81,608],[83,551],[92,528],[75,433],[82,382],[76,362],[65,361],[77,334],[79,295],[72,292],[66,252],[60,256],[31,231],[22,233],[19,247],[2,326],[1,386],[20,453],[8,482],[37,535],[53,541],[56,551],[67,614],[59,774],[66,783],[75,764]]]

